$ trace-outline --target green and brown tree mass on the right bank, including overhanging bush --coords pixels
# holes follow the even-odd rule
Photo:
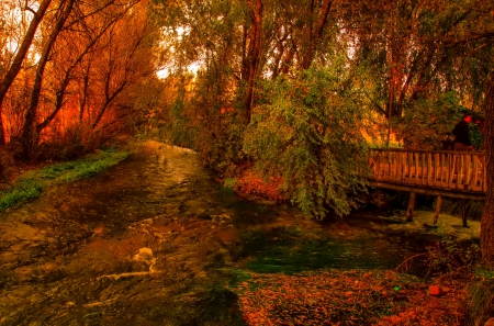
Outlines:
[[[485,1],[153,3],[170,72],[199,69],[173,121],[225,177],[281,177],[313,216],[349,212],[369,145],[437,149],[464,111],[482,115]]]

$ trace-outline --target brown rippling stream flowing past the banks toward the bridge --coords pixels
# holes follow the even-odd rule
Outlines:
[[[146,142],[103,173],[0,214],[0,325],[244,325],[244,271],[395,268],[416,241],[355,215],[306,220]]]

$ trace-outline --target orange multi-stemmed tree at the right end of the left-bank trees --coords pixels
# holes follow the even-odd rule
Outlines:
[[[148,95],[153,98],[146,89],[156,78],[151,50],[157,31],[148,20],[146,3],[127,4],[115,5],[111,14],[106,10],[99,18],[100,30],[93,34],[98,37],[88,38],[78,57],[83,55],[77,69],[81,98],[77,125],[86,133],[82,140],[88,148],[120,133],[146,109],[141,104],[150,100]]]

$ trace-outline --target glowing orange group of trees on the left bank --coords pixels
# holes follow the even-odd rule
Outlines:
[[[146,2],[8,0],[0,10],[0,144],[23,158],[46,154],[42,144],[92,150],[135,116],[136,88],[159,82]]]

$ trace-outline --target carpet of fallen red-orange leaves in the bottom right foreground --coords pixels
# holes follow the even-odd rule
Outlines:
[[[465,291],[393,271],[256,274],[233,290],[247,325],[463,325]],[[449,285],[449,286],[448,286]]]

